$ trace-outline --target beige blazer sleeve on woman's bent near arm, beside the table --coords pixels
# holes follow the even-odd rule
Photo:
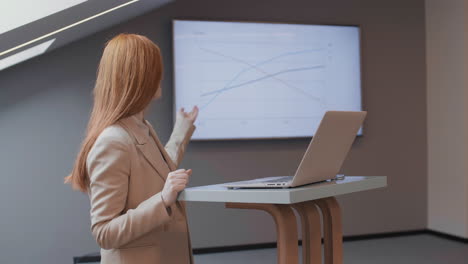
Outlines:
[[[126,212],[131,174],[130,145],[98,138],[87,157],[91,231],[101,248],[119,248],[170,220],[157,193]]]

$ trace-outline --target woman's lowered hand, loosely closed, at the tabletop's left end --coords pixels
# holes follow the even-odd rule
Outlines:
[[[166,206],[171,206],[175,203],[177,194],[187,186],[190,175],[192,175],[192,169],[178,169],[169,172],[161,192]]]

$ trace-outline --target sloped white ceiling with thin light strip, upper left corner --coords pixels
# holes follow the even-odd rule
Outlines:
[[[45,50],[49,52],[172,1],[0,0],[0,10],[7,14],[0,18],[0,61],[5,66],[9,56],[55,39]]]

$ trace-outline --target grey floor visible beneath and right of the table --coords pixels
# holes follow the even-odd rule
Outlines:
[[[346,264],[468,264],[468,244],[433,235],[351,241],[343,247]],[[276,249],[195,255],[195,263],[271,264],[276,263]]]

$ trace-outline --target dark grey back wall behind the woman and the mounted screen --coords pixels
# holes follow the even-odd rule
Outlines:
[[[162,48],[163,99],[147,117],[166,141],[172,126],[171,19],[359,24],[363,32],[365,135],[348,175],[386,175],[386,189],[340,197],[345,235],[426,227],[424,2],[178,0],[0,72],[0,262],[71,263],[96,251],[89,202],[62,180],[83,137],[95,71],[107,39],[149,36]],[[182,166],[191,185],[292,174],[306,139],[193,142]],[[189,204],[193,245],[272,242],[265,213]]]

